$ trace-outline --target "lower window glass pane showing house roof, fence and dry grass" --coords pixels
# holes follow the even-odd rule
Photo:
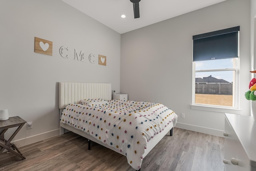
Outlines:
[[[235,71],[196,72],[195,103],[233,105]]]

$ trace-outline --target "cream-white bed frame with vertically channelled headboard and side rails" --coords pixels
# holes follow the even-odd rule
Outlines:
[[[59,109],[60,109],[60,116],[61,111],[70,103],[77,103],[82,99],[105,99],[111,100],[112,99],[112,89],[111,84],[109,83],[68,83],[68,82],[60,82],[59,83]],[[147,149],[145,150],[144,157],[154,148],[154,146],[172,129],[173,122],[171,122],[162,133],[158,133],[154,136],[153,139],[148,141]],[[102,143],[98,139],[92,137],[91,135],[66,125],[64,123],[60,123],[60,135],[64,134],[64,129],[68,129],[78,135],[81,135],[90,141],[94,141],[104,147],[112,149],[117,153],[120,153],[116,148],[107,146],[106,144]],[[122,154],[123,155],[123,154]]]

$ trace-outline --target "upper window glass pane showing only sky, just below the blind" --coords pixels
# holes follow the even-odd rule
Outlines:
[[[235,58],[197,61],[195,62],[195,64],[196,64],[196,70],[215,70],[215,69],[234,68]]]

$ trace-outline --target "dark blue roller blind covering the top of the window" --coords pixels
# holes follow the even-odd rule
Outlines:
[[[193,61],[238,58],[240,26],[193,36]]]

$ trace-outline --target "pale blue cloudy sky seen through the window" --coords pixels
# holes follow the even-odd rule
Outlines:
[[[214,70],[234,68],[234,58],[222,60],[208,60],[196,62],[196,70]],[[212,75],[214,78],[223,79],[228,82],[233,82],[234,71],[216,71],[216,72],[196,72],[196,78],[203,78]]]

